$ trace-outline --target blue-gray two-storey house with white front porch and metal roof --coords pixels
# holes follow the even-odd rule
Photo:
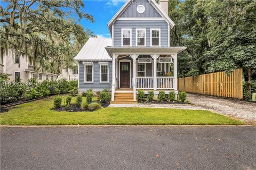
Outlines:
[[[111,103],[136,103],[139,89],[174,90],[177,55],[186,47],[170,47],[173,21],[168,1],[126,1],[108,22],[111,38],[90,38],[75,57],[78,91],[111,89]]]

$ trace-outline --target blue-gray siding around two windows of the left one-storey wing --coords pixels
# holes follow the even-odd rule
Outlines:
[[[112,82],[112,62],[108,61],[109,66],[109,83],[100,83],[100,65],[99,61],[93,62],[93,83],[84,83],[84,65],[82,61],[79,61],[79,91],[86,91],[87,89],[93,89],[94,91],[102,90],[104,88],[111,89]],[[102,62],[102,61],[101,61]]]

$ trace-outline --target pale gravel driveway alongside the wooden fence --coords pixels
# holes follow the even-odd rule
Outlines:
[[[249,121],[252,124],[256,122],[256,103],[195,94],[188,94],[187,99],[209,111]]]

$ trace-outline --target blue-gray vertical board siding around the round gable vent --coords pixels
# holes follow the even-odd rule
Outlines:
[[[145,6],[145,12],[142,14],[137,12],[137,6]],[[122,13],[120,17],[161,17],[156,9],[148,3],[148,0],[133,1],[132,4]]]

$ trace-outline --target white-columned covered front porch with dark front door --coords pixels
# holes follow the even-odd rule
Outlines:
[[[178,94],[177,54],[184,47],[106,47],[112,56],[111,101],[116,94],[127,93],[137,102],[139,89],[145,93],[175,91]],[[125,99],[123,100],[125,101]]]

